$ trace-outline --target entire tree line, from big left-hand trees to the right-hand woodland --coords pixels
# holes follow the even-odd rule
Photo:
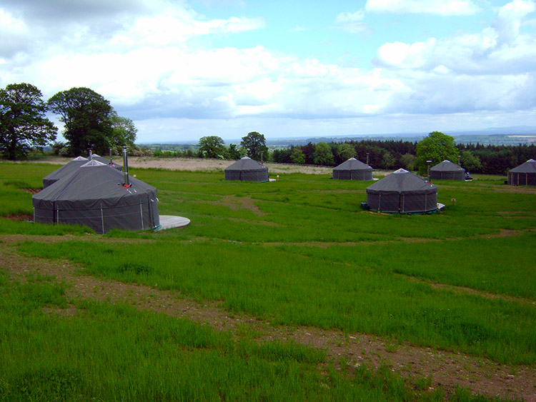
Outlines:
[[[58,129],[46,117],[47,112],[59,116],[64,124],[64,143],[54,143],[54,154],[77,156],[92,149],[107,154],[109,149],[129,146],[136,150],[137,129],[130,119],[119,116],[109,101],[89,88],[71,88],[42,99],[39,89],[31,84],[9,84],[0,89],[0,154],[20,159],[32,148],[51,144]],[[249,156],[257,161],[289,164],[337,166],[349,158],[369,161],[376,169],[427,171],[433,164],[448,159],[460,163],[467,171],[482,174],[505,174],[527,159],[534,158],[536,146],[480,146],[455,144],[451,136],[440,131],[430,133],[420,142],[410,141],[345,141],[344,143],[309,143],[269,152],[264,135],[252,131],[237,144],[225,146],[219,136],[199,139],[197,152],[187,150],[174,156],[239,159]],[[137,149],[139,154],[142,151]],[[154,154],[158,154],[154,152]]]

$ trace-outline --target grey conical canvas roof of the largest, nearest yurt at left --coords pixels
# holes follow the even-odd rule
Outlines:
[[[147,191],[156,192],[153,186],[141,180],[129,177],[131,186],[126,188],[124,175],[116,170],[110,169],[106,164],[99,161],[89,161],[79,166],[71,174],[64,176],[46,189],[32,196],[34,206],[51,206],[52,203],[84,203],[91,207],[96,202],[101,202],[104,206],[115,206],[119,201],[134,199],[134,195]]]

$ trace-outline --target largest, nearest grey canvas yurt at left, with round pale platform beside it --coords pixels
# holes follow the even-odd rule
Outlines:
[[[39,191],[32,203],[39,223],[84,225],[101,234],[159,226],[157,189],[99,161],[89,161]]]

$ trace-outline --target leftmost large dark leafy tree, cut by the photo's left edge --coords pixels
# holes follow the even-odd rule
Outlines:
[[[31,84],[0,89],[0,152],[11,160],[26,156],[32,146],[56,139],[58,129],[46,118],[46,103]]]

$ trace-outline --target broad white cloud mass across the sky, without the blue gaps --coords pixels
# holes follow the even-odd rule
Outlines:
[[[404,2],[406,9],[415,3]],[[379,7],[380,2],[368,4]],[[260,17],[209,19],[187,6],[171,7],[165,1],[159,6],[139,15],[118,11],[102,21],[104,25],[79,16],[76,23],[50,27],[32,25],[21,14],[0,8],[0,34],[5,35],[0,44],[0,86],[30,82],[45,96],[88,86],[136,121],[140,135],[190,130],[199,138],[221,130],[223,136],[240,124],[259,124],[244,129],[245,135],[262,131],[267,119],[279,122],[282,130],[295,129],[289,121],[297,121],[312,131],[328,126],[350,130],[361,121],[369,124],[363,123],[363,130],[370,127],[366,132],[373,132],[375,116],[391,121],[393,127],[402,121],[393,116],[413,116],[412,121],[426,124],[445,123],[445,116],[466,111],[512,116],[519,109],[525,111],[525,119],[530,113],[535,116],[536,36],[522,29],[535,11],[534,1],[512,1],[497,10],[490,26],[475,33],[385,43],[369,70],[314,56],[301,59],[261,45],[214,47],[211,35],[269,27]],[[440,10],[433,2],[426,9]],[[345,12],[334,24],[362,33],[369,30],[364,17],[364,11]],[[30,40],[29,32],[36,29],[44,33]],[[30,47],[9,53],[9,41],[24,41]],[[469,117],[460,121],[470,124]],[[164,129],[161,123],[169,126]],[[379,132],[388,132],[388,126]]]

